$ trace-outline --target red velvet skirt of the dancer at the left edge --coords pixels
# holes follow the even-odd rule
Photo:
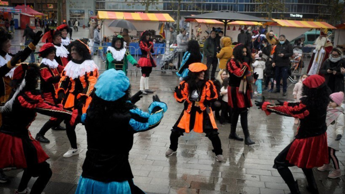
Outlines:
[[[41,147],[41,144],[32,138],[30,132],[30,143],[36,148],[38,163],[45,162],[49,156]],[[24,145],[25,146],[25,145]],[[27,161],[24,154],[23,142],[19,137],[0,133],[0,168],[17,167],[27,168]]]

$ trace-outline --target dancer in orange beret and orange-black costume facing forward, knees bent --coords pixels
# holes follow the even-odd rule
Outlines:
[[[194,130],[196,133],[206,133],[213,145],[213,152],[218,162],[223,161],[223,149],[218,136],[218,128],[213,117],[211,101],[217,99],[217,90],[211,80],[205,76],[207,66],[202,63],[190,64],[188,77],[175,88],[174,97],[179,103],[185,103],[177,122],[171,129],[170,146],[166,156],[177,152],[178,138],[183,133]]]

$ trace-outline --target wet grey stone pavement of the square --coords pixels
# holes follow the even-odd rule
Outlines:
[[[82,37],[82,32],[79,33]],[[83,33],[87,33],[87,31],[85,30]],[[76,34],[78,35],[78,33]],[[75,32],[73,32],[73,37],[74,35]],[[140,76],[135,77],[129,72],[129,79],[132,94],[134,94],[139,90]],[[228,139],[230,124],[221,125],[216,121],[223,148],[223,162],[216,162],[215,155],[212,153],[213,147],[205,134],[194,132],[181,136],[177,154],[166,157],[165,151],[169,147],[170,129],[183,109],[183,104],[177,103],[173,97],[174,88],[179,80],[170,73],[162,74],[160,71],[154,71],[150,76],[149,83],[150,88],[156,90],[155,94],[160,97],[161,101],[167,103],[168,111],[158,127],[135,134],[134,137],[129,162],[134,174],[134,182],[142,190],[157,194],[289,193],[287,185],[272,166],[274,158],[292,141],[296,133],[297,126],[294,125],[294,118],[275,114],[266,116],[262,110],[252,107],[248,115],[248,125],[252,140],[256,144],[246,146],[244,142]],[[293,87],[294,84],[288,82],[286,97],[283,97],[282,93],[270,94],[267,91],[263,92],[263,96],[268,101],[275,99],[293,101]],[[256,88],[255,85],[253,88]],[[255,98],[261,99],[261,97]],[[139,108],[147,110],[151,101],[152,95],[147,95],[137,105]],[[33,137],[48,119],[49,117],[38,114],[30,126]],[[114,127],[116,128],[116,126]],[[239,122],[237,131],[243,137]],[[64,131],[49,130],[46,137],[50,143],[41,144],[50,156],[48,163],[53,171],[50,182],[44,191],[46,194],[72,194],[76,190],[87,151],[84,126],[79,124],[76,133],[81,152],[79,156],[62,157],[70,147]],[[344,138],[340,144],[341,150],[336,155],[344,175]],[[292,167],[291,170],[298,180],[301,193],[309,193],[305,188],[307,183],[302,170],[297,167]],[[345,193],[344,176],[331,180],[327,178],[328,172],[319,172],[315,168],[314,173],[320,193]],[[1,194],[14,193],[14,189],[18,187],[22,170],[14,169],[6,174],[11,177],[11,182],[0,183]],[[34,180],[32,178],[29,187],[32,186]]]

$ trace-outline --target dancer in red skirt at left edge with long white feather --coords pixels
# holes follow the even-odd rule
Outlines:
[[[38,87],[40,76],[37,64],[21,64],[14,70],[12,86],[15,88],[6,104],[0,107],[3,123],[0,128],[0,168],[24,168],[19,183],[18,193],[40,194],[46,187],[52,175],[40,143],[28,130],[37,113],[62,117],[71,124],[78,116],[78,110],[64,110],[58,106],[46,103]],[[31,177],[38,177],[31,192],[28,183]]]

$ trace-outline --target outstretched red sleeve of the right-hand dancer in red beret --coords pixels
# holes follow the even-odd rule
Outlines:
[[[283,106],[271,105],[269,102],[265,102],[262,105],[262,110],[265,111],[266,115],[270,115],[271,113],[276,113],[278,115],[295,117],[299,119],[303,119],[309,115],[307,106],[300,102],[298,103],[284,102]]]

